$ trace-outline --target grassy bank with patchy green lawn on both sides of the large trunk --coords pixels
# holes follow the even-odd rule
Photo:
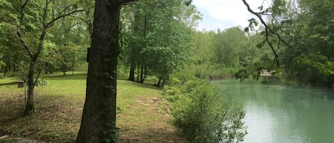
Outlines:
[[[73,142],[80,127],[86,73],[44,78],[48,85],[36,87],[36,114],[28,117],[22,116],[25,90],[17,88],[17,78],[0,79],[0,142],[19,142],[17,137]],[[119,142],[184,142],[169,124],[169,105],[160,93],[150,85],[118,80]]]

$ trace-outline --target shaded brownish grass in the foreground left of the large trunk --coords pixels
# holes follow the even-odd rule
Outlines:
[[[35,94],[36,113],[24,116],[24,97],[0,98],[0,137],[72,142],[80,127],[81,102],[64,96]],[[1,139],[0,139],[0,142]]]

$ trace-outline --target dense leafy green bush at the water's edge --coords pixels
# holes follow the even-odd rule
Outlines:
[[[190,142],[239,142],[246,127],[243,106],[206,80],[172,79],[163,95],[172,102],[174,125]]]

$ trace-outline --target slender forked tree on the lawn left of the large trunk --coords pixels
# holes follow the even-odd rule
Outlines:
[[[12,3],[14,4],[14,2]],[[68,4],[68,5],[62,5]],[[19,23],[16,29],[16,33],[19,36],[19,40],[22,43],[26,53],[29,57],[28,68],[28,97],[26,100],[26,112],[33,112],[33,90],[36,85],[34,80],[34,73],[38,58],[43,50],[44,39],[48,28],[51,28],[58,19],[65,16],[70,16],[80,10],[74,9],[75,2],[73,1],[19,1]],[[36,11],[36,8],[41,11]],[[58,9],[61,8],[61,9]],[[33,15],[34,14],[34,15]],[[35,21],[31,16],[41,21]],[[31,36],[33,37],[32,39]],[[29,41],[33,40],[33,42]],[[38,76],[37,76],[38,78]]]

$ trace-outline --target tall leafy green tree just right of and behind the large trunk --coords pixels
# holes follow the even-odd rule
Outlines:
[[[156,75],[159,81],[165,81],[184,61],[192,28],[200,14],[193,5],[187,6],[182,0],[143,1],[130,8],[125,48],[130,65],[129,80],[135,80],[137,69],[139,83],[143,83],[147,75]]]

